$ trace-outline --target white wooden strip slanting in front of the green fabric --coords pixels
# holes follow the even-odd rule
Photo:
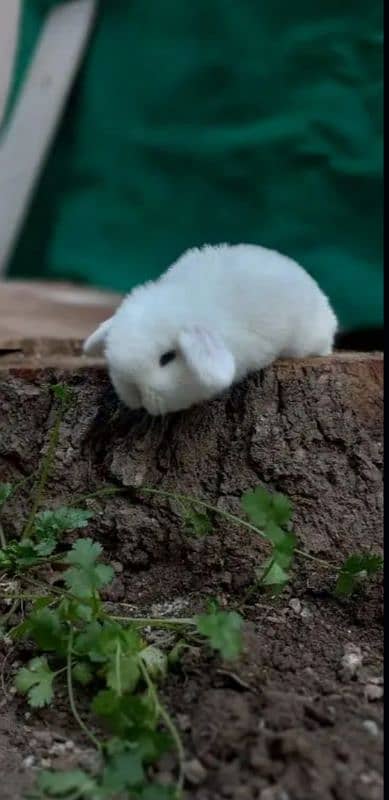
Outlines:
[[[49,13],[0,143],[0,276],[16,244],[91,31],[96,0]]]

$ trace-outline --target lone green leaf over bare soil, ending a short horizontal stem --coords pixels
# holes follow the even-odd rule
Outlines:
[[[243,647],[243,619],[240,614],[213,607],[209,613],[201,614],[195,619],[198,632],[208,639],[211,647],[219,651],[226,661],[240,655]]]

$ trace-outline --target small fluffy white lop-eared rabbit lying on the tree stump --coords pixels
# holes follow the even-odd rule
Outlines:
[[[120,399],[150,414],[215,397],[276,358],[331,353],[337,320],[296,262],[255,245],[184,253],[134,289],[84,352],[105,355]]]

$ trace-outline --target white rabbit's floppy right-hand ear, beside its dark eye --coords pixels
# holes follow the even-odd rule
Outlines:
[[[202,327],[187,328],[178,337],[188,367],[203,386],[222,391],[231,386],[235,362],[223,340]]]

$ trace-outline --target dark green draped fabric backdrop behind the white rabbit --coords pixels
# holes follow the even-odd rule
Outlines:
[[[24,3],[18,82],[50,5]],[[379,325],[381,93],[377,0],[103,0],[11,275],[129,290],[257,242]]]

